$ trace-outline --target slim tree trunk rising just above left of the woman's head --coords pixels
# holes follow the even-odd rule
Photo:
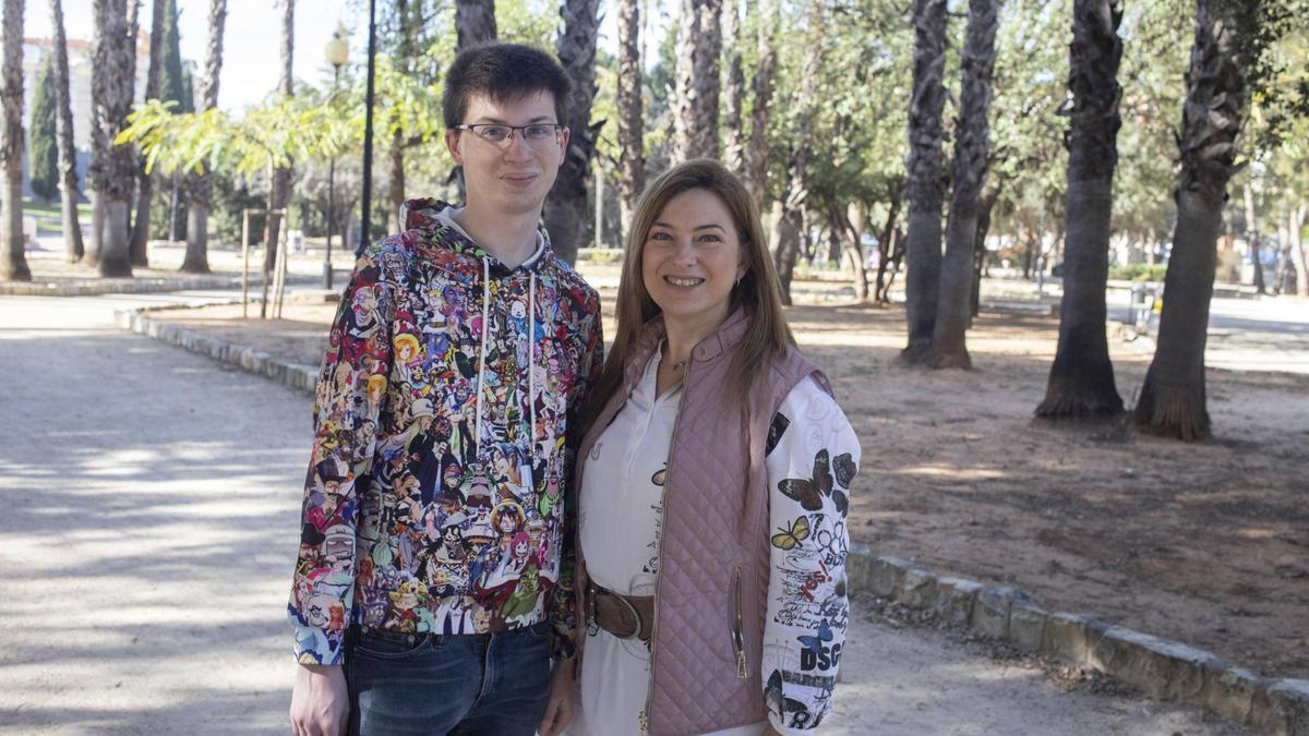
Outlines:
[[[618,215],[622,240],[645,189],[645,123],[641,113],[641,4],[618,0]]]

